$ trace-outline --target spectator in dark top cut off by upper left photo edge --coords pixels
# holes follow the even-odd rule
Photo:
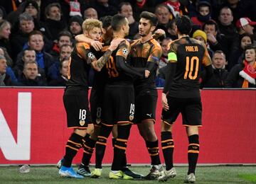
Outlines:
[[[9,38],[11,35],[11,23],[8,21],[0,21],[0,47],[5,47],[8,54],[11,56],[11,44]]]

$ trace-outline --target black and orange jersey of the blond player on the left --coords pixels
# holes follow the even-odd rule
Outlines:
[[[83,42],[78,42],[71,54],[68,64],[68,83],[67,87],[88,88],[88,72],[90,65],[85,60],[89,54],[90,45]],[[91,57],[95,57],[94,55]]]

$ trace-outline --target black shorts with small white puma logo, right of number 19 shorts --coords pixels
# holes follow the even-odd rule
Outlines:
[[[135,113],[134,123],[140,123],[142,120],[156,120],[156,89],[145,89],[135,94]]]

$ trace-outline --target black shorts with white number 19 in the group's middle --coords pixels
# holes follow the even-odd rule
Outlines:
[[[104,92],[102,124],[132,123],[134,119],[133,85],[107,85]]]

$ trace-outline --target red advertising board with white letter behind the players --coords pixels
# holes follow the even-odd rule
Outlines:
[[[31,112],[18,110],[18,95],[31,96]],[[161,89],[159,89],[159,96]],[[63,108],[63,88],[0,88],[0,164],[55,164],[64,154],[65,142],[70,131],[66,128]],[[255,164],[256,163],[256,91],[255,90],[203,90],[203,127],[201,133],[201,155],[198,163],[215,164]],[[5,151],[14,151],[11,139],[18,142],[18,112],[31,113],[30,156],[26,160],[8,159],[2,149],[3,142],[9,145]],[[157,105],[156,134],[160,135],[160,98]],[[3,119],[4,118],[4,119]],[[11,137],[4,136],[4,120],[10,129]],[[26,126],[26,125],[20,125]],[[187,162],[187,138],[181,125],[181,117],[174,126],[174,163]],[[19,132],[20,133],[20,132]],[[23,132],[23,134],[26,132]],[[29,134],[29,131],[28,131]],[[21,134],[20,134],[21,136]],[[10,139],[11,138],[11,139]],[[17,144],[17,145],[18,145]],[[19,149],[22,154],[22,148]],[[161,149],[161,161],[164,161]],[[82,150],[75,157],[79,163]],[[149,164],[146,146],[139,136],[137,127],[132,127],[127,148],[128,163]],[[92,157],[95,163],[95,157]],[[103,163],[112,163],[112,145],[108,140]]]

